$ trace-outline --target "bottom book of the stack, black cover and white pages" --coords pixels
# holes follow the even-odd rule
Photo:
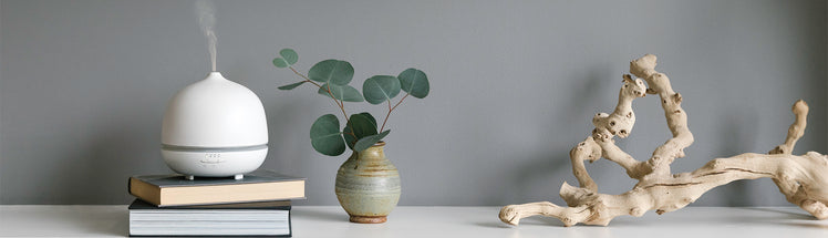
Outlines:
[[[290,200],[157,207],[130,205],[130,236],[290,237]]]

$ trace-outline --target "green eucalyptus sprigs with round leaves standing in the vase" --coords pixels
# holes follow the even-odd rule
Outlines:
[[[353,66],[346,61],[321,61],[311,66],[308,74],[304,75],[293,68],[293,64],[299,61],[296,51],[282,49],[279,51],[279,55],[280,58],[273,59],[273,65],[290,69],[302,79],[302,81],[279,86],[279,90],[293,90],[302,84],[310,83],[318,89],[318,94],[333,100],[333,103],[342,112],[345,120],[342,128],[340,128],[339,118],[333,114],[324,114],[311,125],[311,145],[313,149],[323,155],[341,155],[345,152],[345,147],[354,152],[362,152],[371,147],[391,133],[391,130],[385,130],[385,123],[387,123],[391,112],[396,110],[408,95],[416,99],[428,95],[428,79],[423,71],[417,69],[404,70],[396,76],[374,75],[369,77],[362,83],[362,93],[360,93],[358,89],[349,85],[353,80]],[[405,95],[395,104],[392,103],[392,100],[400,95],[401,91],[405,92]],[[345,112],[345,102],[368,102],[374,105],[387,103],[389,112],[382,121],[382,126],[377,127],[376,120],[371,113],[362,112],[349,116]]]

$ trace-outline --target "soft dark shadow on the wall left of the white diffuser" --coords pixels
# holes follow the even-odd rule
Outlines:
[[[147,123],[149,124],[149,123]],[[50,204],[128,204],[127,179],[138,174],[172,173],[158,151],[158,131],[146,132],[152,125],[123,123],[94,130],[83,148],[73,149],[51,172],[53,183],[45,203]],[[153,137],[153,138],[151,138]],[[43,196],[44,195],[39,195]],[[58,198],[60,197],[60,198]]]

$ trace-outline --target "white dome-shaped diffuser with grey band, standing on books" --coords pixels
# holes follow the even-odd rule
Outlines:
[[[169,101],[161,130],[161,153],[173,170],[241,179],[268,154],[265,107],[241,84],[211,72]]]

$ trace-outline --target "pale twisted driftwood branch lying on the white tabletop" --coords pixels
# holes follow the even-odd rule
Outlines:
[[[797,101],[793,106],[795,122],[788,128],[785,143],[768,154],[745,153],[727,158],[716,158],[703,167],[682,174],[672,174],[670,165],[684,157],[684,148],[693,143],[687,127],[687,115],[681,107],[682,96],[673,91],[670,80],[655,71],[655,55],[648,54],[630,62],[630,73],[641,79],[623,76],[619,103],[611,114],[599,113],[592,118],[596,128],[570,151],[572,172],[580,186],[563,183],[560,196],[567,207],[540,201],[509,205],[500,210],[500,220],[517,225],[529,216],[550,216],[565,226],[576,224],[607,226],[612,218],[642,216],[648,210],[658,214],[673,211],[695,201],[707,190],[741,179],[769,177],[785,194],[788,201],[801,207],[816,218],[828,218],[828,157],[816,152],[791,155],[803,136],[808,105]],[[644,86],[646,82],[649,87]],[[648,161],[636,161],[613,141],[627,137],[635,123],[632,101],[646,94],[658,94],[673,137],[655,148]],[[598,185],[587,173],[584,161],[607,158],[627,170],[639,183],[620,195],[598,193]]]

